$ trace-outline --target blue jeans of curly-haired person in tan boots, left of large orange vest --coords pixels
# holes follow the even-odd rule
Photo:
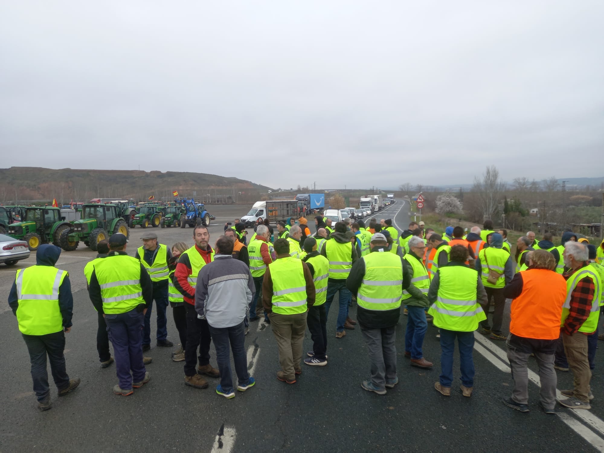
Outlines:
[[[453,382],[453,353],[455,352],[455,337],[459,347],[459,370],[461,371],[461,384],[474,387],[474,332],[457,332],[456,330],[440,329],[440,385],[451,387]]]

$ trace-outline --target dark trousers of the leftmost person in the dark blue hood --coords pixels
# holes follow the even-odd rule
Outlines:
[[[22,334],[23,335],[23,334]],[[47,335],[23,335],[27,350],[30,353],[31,379],[34,382],[34,392],[38,401],[45,400],[50,394],[48,387],[48,372],[46,356],[50,362],[54,384],[59,390],[69,386],[69,376],[65,370],[65,333],[60,330]]]

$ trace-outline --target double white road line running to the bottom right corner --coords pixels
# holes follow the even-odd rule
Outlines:
[[[499,359],[502,359],[503,361],[506,362],[506,365],[505,365],[506,372],[507,373],[511,372],[510,367],[507,366],[507,363],[509,363],[509,362],[507,361],[506,352],[503,349],[497,347],[495,344],[493,344],[492,341],[490,341],[487,338],[484,338],[484,336],[482,336],[478,332],[474,332],[474,338],[478,341],[478,343],[480,343],[480,344],[474,343],[474,348],[479,353],[481,353],[484,356],[484,358],[486,358],[488,361],[490,361],[493,365],[495,365],[500,370],[501,370],[501,361]],[[481,347],[481,345],[484,347]],[[529,379],[529,381],[533,382],[533,384],[535,384],[537,387],[541,387],[541,382],[539,381],[539,375],[537,373],[535,373],[535,371],[530,370],[530,368],[528,369],[528,379]],[[562,393],[560,393],[559,390],[556,390],[556,399],[557,400],[561,400],[561,399],[565,399],[565,398],[566,397],[564,395],[562,395]],[[568,413],[556,411],[556,415],[558,417],[560,417],[562,419],[562,421],[564,423],[566,423],[571,429],[573,429],[574,432],[576,432],[581,437],[583,437],[583,439],[585,439],[587,442],[589,442],[591,445],[593,445],[594,448],[596,448],[598,451],[604,452],[604,439],[602,437],[600,437],[600,435],[599,435],[599,434],[604,435],[604,422],[602,421],[602,419],[600,419],[599,417],[597,417],[595,414],[591,413],[590,411],[570,410],[570,413],[577,419],[582,420],[585,423],[585,425],[589,426],[591,429],[593,429],[596,432],[591,431],[591,429],[589,429],[587,426],[583,425],[580,422],[577,422],[577,420],[568,416]]]

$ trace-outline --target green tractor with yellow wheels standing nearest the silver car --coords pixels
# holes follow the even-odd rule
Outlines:
[[[60,244],[60,237],[69,231],[71,224],[61,216],[59,208],[50,206],[30,206],[25,208],[21,222],[8,225],[7,234],[14,239],[27,242],[31,251],[48,242]]]

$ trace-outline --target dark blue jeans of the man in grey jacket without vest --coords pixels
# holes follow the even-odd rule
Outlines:
[[[214,347],[216,347],[216,361],[220,371],[220,387],[225,393],[233,391],[233,374],[231,373],[231,354],[233,350],[233,362],[235,363],[235,372],[240,385],[245,385],[249,381],[248,358],[245,354],[243,341],[243,322],[233,327],[223,327],[216,329],[208,326]]]

